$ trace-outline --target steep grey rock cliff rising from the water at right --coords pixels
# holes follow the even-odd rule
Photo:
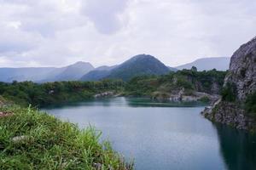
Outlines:
[[[212,107],[202,112],[214,122],[221,122],[239,129],[254,130],[256,121],[244,110],[248,94],[256,90],[256,37],[243,44],[232,55],[230,71],[225,77],[224,87],[232,84],[236,88],[236,101],[219,99]]]

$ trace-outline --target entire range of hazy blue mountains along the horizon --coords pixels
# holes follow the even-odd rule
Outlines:
[[[230,58],[202,58],[196,59],[224,59],[223,65],[229,65]],[[212,64],[218,63],[222,65],[222,62],[207,62]],[[73,65],[67,65],[63,67],[3,67],[0,68],[0,82],[56,82],[56,81],[98,81],[104,78],[119,78],[125,81],[132,77],[142,75],[160,75],[166,74],[168,71],[177,71],[182,69],[182,66],[186,69],[190,69],[192,64],[180,65],[176,68],[170,67],[162,63],[159,59],[149,54],[138,54],[131,59],[125,60],[120,65],[102,65],[94,68],[89,62],[78,61]],[[213,67],[217,70],[218,65],[208,66],[207,70],[212,70]],[[199,71],[202,70],[201,66],[195,65]],[[204,65],[207,66],[207,65]]]

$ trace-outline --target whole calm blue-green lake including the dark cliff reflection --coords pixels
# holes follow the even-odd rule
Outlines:
[[[102,139],[134,158],[138,170],[256,169],[256,137],[200,115],[203,105],[149,99],[91,100],[44,109],[62,120],[95,126]]]

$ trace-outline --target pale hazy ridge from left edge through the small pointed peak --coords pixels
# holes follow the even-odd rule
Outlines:
[[[94,67],[90,63],[77,62],[61,68],[55,67],[24,67],[24,68],[0,68],[0,82],[55,82],[73,81]]]

